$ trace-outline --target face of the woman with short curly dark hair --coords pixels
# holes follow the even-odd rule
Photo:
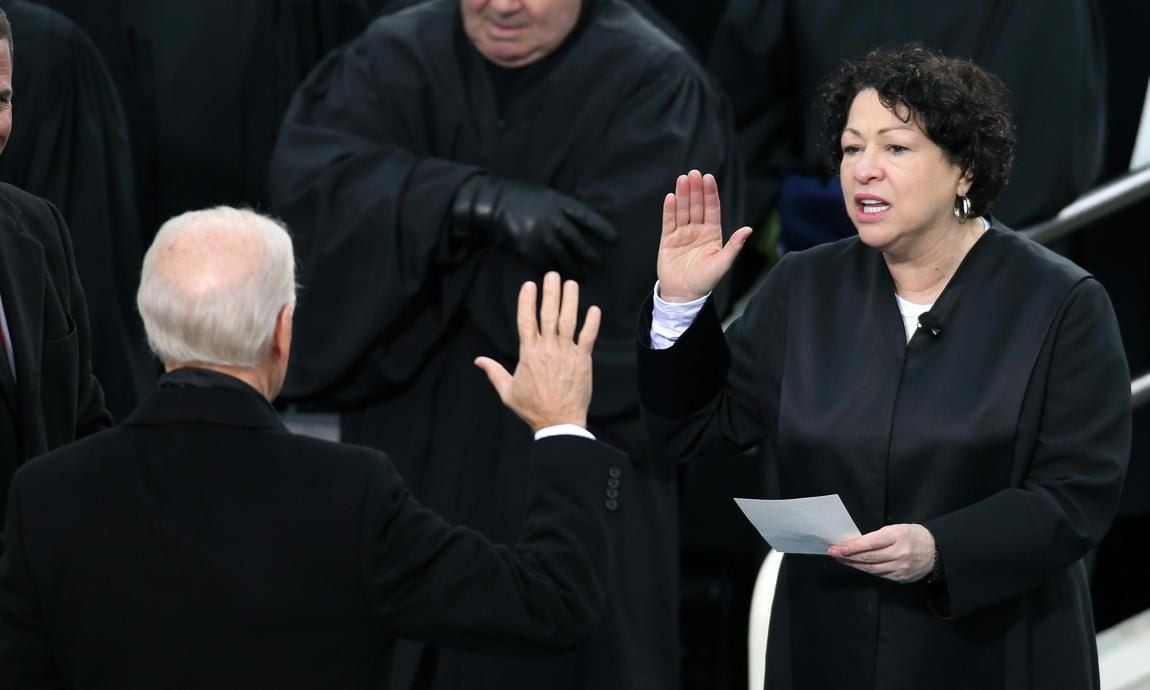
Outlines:
[[[971,189],[915,120],[903,122],[867,89],[854,97],[843,129],[846,213],[864,243],[888,253],[913,253],[956,225],[954,198]]]

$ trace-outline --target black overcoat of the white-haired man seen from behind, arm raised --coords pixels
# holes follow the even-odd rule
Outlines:
[[[292,435],[238,379],[177,370],[122,425],[16,474],[0,687],[378,690],[398,636],[570,647],[603,610],[603,491],[629,470],[566,436],[532,445],[531,471],[518,542],[494,545],[421,506],[383,453]]]

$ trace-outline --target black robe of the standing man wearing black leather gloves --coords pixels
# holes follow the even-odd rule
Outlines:
[[[494,247],[459,255],[455,190],[480,170],[545,184],[620,233],[581,293],[604,313],[590,428],[635,465],[604,621],[558,659],[442,651],[440,687],[677,685],[676,475],[642,446],[631,332],[675,176],[714,171],[730,217],[741,184],[721,100],[685,51],[623,2],[589,7],[503,108],[457,0],[377,20],[304,84],[273,156],[304,285],[285,394],[345,408],[345,440],[386,448],[420,500],[499,540],[520,530],[530,434],[471,360],[514,363],[519,285],[540,275]]]

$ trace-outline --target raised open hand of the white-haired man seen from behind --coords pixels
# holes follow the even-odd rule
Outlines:
[[[535,296],[535,283],[523,283],[519,291],[519,363],[514,376],[486,356],[476,358],[475,366],[488,375],[504,405],[532,431],[555,424],[585,428],[586,408],[591,404],[591,350],[599,335],[599,307],[588,308],[576,340],[578,283],[567,281],[560,294],[559,274],[552,271],[544,276],[538,321]]]

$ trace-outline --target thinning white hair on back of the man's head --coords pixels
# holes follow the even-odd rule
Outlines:
[[[254,367],[281,309],[296,304],[296,259],[279,222],[218,206],[178,215],[144,256],[136,304],[166,363]]]

